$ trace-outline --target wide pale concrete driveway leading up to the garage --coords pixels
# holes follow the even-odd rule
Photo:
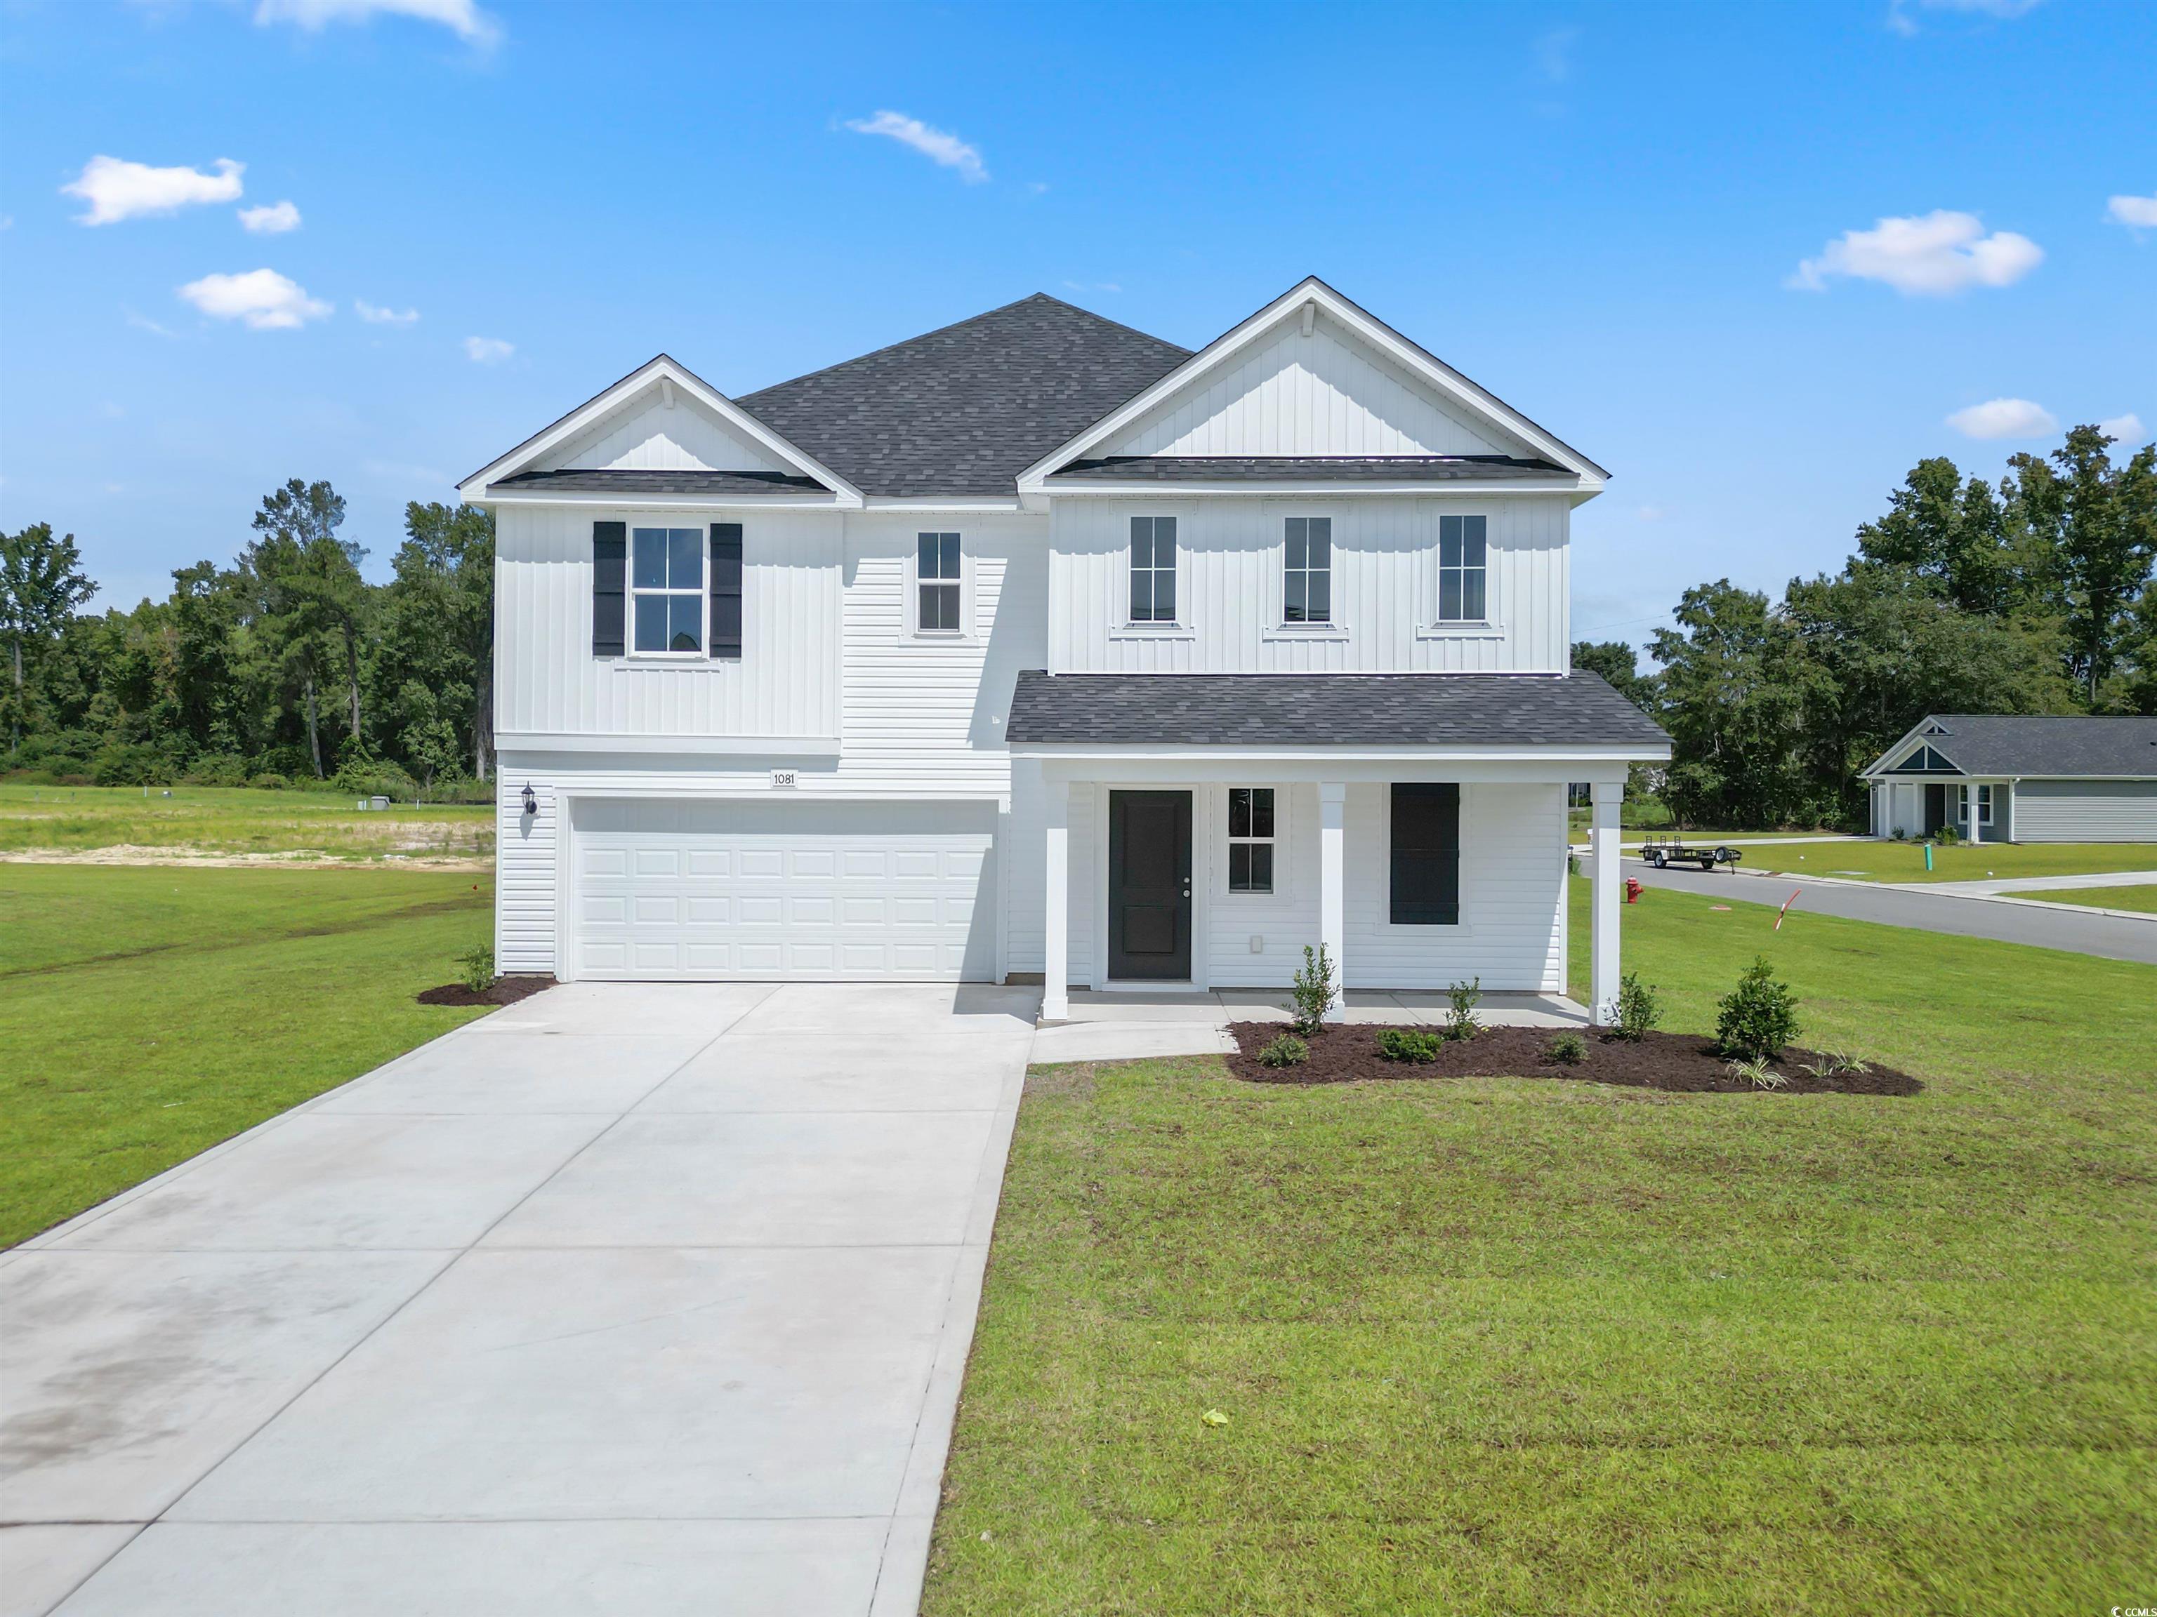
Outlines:
[[[0,1255],[0,1608],[912,1613],[1038,998],[557,987]]]

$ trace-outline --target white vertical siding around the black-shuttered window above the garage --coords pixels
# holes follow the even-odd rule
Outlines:
[[[591,655],[591,526],[742,524],[742,658]],[[841,517],[833,511],[604,511],[496,515],[494,727],[539,735],[839,735]]]

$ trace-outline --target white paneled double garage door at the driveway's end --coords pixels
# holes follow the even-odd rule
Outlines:
[[[578,977],[986,981],[992,804],[576,806]]]

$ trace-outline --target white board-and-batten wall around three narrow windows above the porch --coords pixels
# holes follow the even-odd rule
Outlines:
[[[1173,630],[1130,625],[1130,520],[1176,517]],[[1283,520],[1333,520],[1333,625],[1281,623]],[[1439,623],[1439,517],[1488,517],[1488,623]],[[1564,673],[1562,494],[1057,498],[1055,673]]]

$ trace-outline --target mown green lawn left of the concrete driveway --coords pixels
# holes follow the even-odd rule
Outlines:
[[[490,903],[462,871],[0,865],[0,1246],[468,1022],[412,996]]]

